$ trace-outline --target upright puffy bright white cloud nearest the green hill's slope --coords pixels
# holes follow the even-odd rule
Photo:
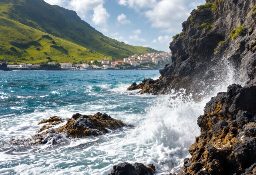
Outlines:
[[[109,16],[109,13],[103,7],[103,4],[100,4],[94,8],[92,22],[95,25],[104,25],[106,27]]]

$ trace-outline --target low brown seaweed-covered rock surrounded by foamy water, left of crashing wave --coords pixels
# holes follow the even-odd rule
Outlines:
[[[66,123],[65,123],[66,122]],[[58,116],[51,116],[49,119],[43,119],[38,123],[45,124],[32,138],[25,140],[12,139],[4,145],[41,145],[46,143],[65,144],[66,138],[83,138],[87,136],[98,136],[116,130],[121,127],[132,127],[126,125],[120,120],[116,120],[107,114],[100,112],[94,115],[74,114],[71,119],[62,119]],[[60,125],[61,124],[61,125]]]

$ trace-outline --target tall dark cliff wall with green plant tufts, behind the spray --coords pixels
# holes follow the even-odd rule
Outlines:
[[[206,93],[225,81],[228,61],[242,82],[256,75],[255,0],[208,0],[182,23],[182,33],[170,43],[172,61],[160,78],[141,93],[163,94],[185,88]],[[235,30],[235,31],[232,31]],[[153,90],[152,90],[153,89]]]

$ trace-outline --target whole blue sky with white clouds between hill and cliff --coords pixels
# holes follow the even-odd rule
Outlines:
[[[74,10],[104,35],[136,46],[170,51],[172,36],[205,0],[45,0]]]

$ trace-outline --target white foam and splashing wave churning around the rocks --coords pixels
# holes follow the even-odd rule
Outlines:
[[[57,110],[46,109],[44,112],[35,110],[31,114],[19,115],[19,120],[2,118],[0,123],[0,139],[8,141],[10,138],[24,139],[31,137],[40,128],[38,121],[57,115],[70,118],[74,113],[94,114],[108,113],[125,123],[133,124],[135,128],[122,128],[111,133],[83,139],[69,139],[67,145],[51,147],[43,145],[25,152],[0,152],[0,164],[16,162],[10,168],[2,168],[0,173],[10,174],[86,174],[107,175],[112,166],[120,162],[153,163],[158,174],[177,172],[183,164],[183,159],[190,156],[188,148],[199,135],[197,117],[203,114],[203,109],[219,91],[226,91],[229,84],[235,83],[234,72],[231,67],[223,75],[226,82],[221,83],[215,90],[200,102],[194,102],[191,96],[186,96],[184,90],[172,92],[169,95],[139,95],[128,92],[128,84],[96,85],[106,91],[105,97],[115,95],[132,97],[134,100],[143,100],[145,111],[134,112],[131,101],[113,103],[105,98],[97,103],[59,107]],[[101,96],[94,92],[94,86],[87,87],[85,92]],[[59,93],[52,91],[52,93]],[[178,98],[174,98],[178,95]],[[111,103],[110,103],[111,102]],[[125,110],[120,110],[120,109]],[[12,123],[12,125],[8,125]],[[15,155],[14,155],[15,153]]]

